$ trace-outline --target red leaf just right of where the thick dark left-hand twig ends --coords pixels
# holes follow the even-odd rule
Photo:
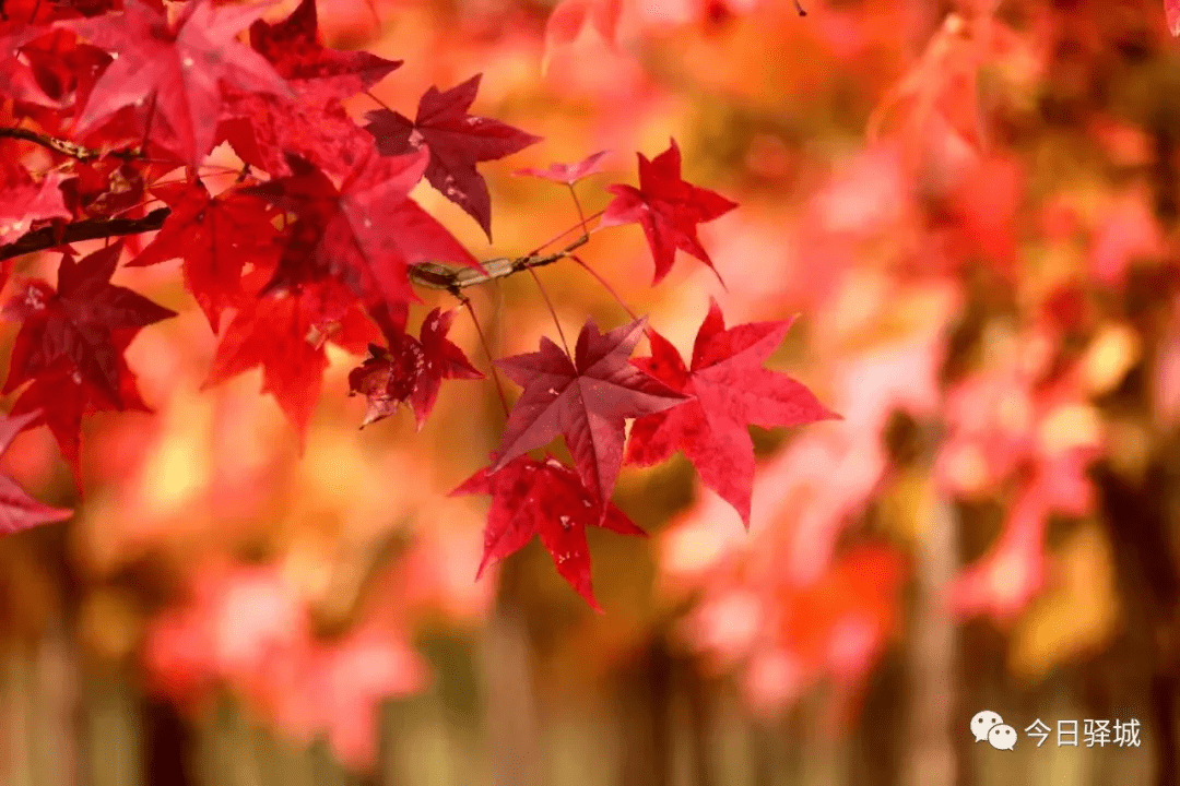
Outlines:
[[[152,194],[172,213],[127,266],[184,259],[184,283],[216,333],[222,310],[241,300],[243,265],[274,265],[278,230],[270,222],[275,210],[241,190],[210,197],[199,180],[158,186]]]

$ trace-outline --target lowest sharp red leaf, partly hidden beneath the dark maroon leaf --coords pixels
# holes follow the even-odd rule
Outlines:
[[[485,467],[451,491],[452,496],[463,494],[492,496],[477,580],[490,564],[520,550],[537,535],[553,557],[557,573],[596,612],[602,612],[602,607],[591,586],[585,528],[647,536],[612,503],[599,515],[595,495],[576,473],[552,456],[545,461],[519,456],[498,470]]]

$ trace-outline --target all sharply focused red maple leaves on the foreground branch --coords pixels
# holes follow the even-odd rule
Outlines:
[[[419,302],[413,265],[481,270],[409,192],[425,179],[491,238],[491,197],[477,165],[539,138],[470,112],[478,74],[430,88],[413,120],[382,107],[360,125],[342,101],[400,62],[324,47],[313,0],[276,24],[262,20],[267,9],[212,0],[44,4],[9,9],[0,28],[8,53],[0,85],[55,160],[40,177],[6,166],[0,240],[17,244],[50,227],[64,252],[55,289],[21,282],[5,308],[21,324],[4,391],[22,389],[14,412],[41,412],[79,487],[83,417],[149,409],[124,352],[139,329],[173,316],[111,283],[125,250],[129,267],[181,259],[184,285],[219,337],[205,384],[261,366],[263,391],[301,440],[327,342],[353,354],[368,348],[349,375],[350,392],[368,403],[363,424],[408,403],[421,427],[444,379],[483,376],[446,337],[453,311],[435,309],[417,337],[407,331]],[[64,60],[38,54],[50,41]],[[5,144],[37,141],[25,139]],[[221,144],[248,166],[215,192],[201,167]],[[572,187],[603,154],[524,173]],[[162,180],[182,167],[182,179]],[[608,187],[614,200],[598,227],[640,224],[654,283],[677,250],[712,267],[697,225],[735,203],[681,177],[675,141],[654,159],[641,154],[638,167],[638,186]],[[145,247],[116,242],[74,259],[72,226],[145,220],[155,200],[166,218]],[[14,246],[8,256],[17,253]],[[562,575],[596,606],[584,528],[641,533],[610,504],[624,457],[651,464],[683,450],[748,522],[754,460],[746,427],[832,416],[806,388],[761,368],[787,328],[727,330],[714,305],[690,369],[643,319],[607,332],[588,321],[573,352],[545,338],[537,352],[500,359],[524,390],[492,464],[459,489],[493,497],[484,564],[538,533]],[[632,362],[644,332],[653,356]],[[636,421],[629,448],[628,420]],[[527,458],[558,435],[573,469]]]

